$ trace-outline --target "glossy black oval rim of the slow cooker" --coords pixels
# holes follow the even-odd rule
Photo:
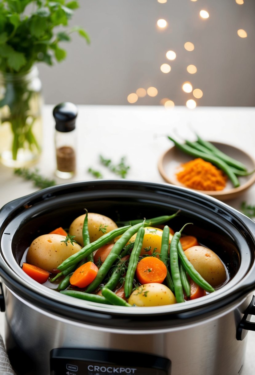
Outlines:
[[[206,300],[198,299],[181,304],[157,306],[153,308],[123,308],[98,306],[93,303],[81,303],[80,300],[74,303],[74,299],[68,296],[62,296],[59,293],[50,291],[43,285],[38,285],[28,276],[29,280],[22,279],[13,270],[9,264],[6,263],[6,250],[1,248],[0,254],[0,275],[4,283],[10,290],[31,302],[32,304],[42,308],[46,311],[58,314],[63,317],[69,317],[74,320],[87,321],[94,324],[97,320],[105,321],[106,325],[113,324],[116,326],[116,321],[126,322],[127,326],[132,322],[149,322],[152,317],[159,316],[162,321],[189,319],[196,316],[208,314],[218,309],[245,297],[248,293],[255,289],[255,223],[235,210],[227,204],[218,201],[215,198],[207,196],[203,193],[193,192],[190,189],[173,186],[165,183],[151,183],[144,181],[132,180],[92,180],[80,181],[75,183],[65,183],[53,187],[49,187],[38,192],[29,194],[27,196],[18,198],[12,202],[7,203],[0,210],[0,237],[3,237],[6,227],[12,222],[17,215],[27,214],[27,209],[34,207],[41,207],[43,204],[49,204],[52,199],[65,199],[70,194],[77,192],[93,193],[95,196],[98,193],[106,192],[107,197],[114,196],[116,192],[127,193],[135,196],[135,194],[148,194],[160,197],[160,199],[168,198],[168,195],[178,195],[181,199],[192,201],[193,204],[207,207],[210,212],[214,212],[218,217],[224,220],[230,220],[230,226],[239,226],[240,237],[246,236],[249,242],[249,247],[252,250],[249,254],[242,254],[242,272],[240,270],[237,275],[224,287],[206,296]],[[145,194],[145,195],[146,195]],[[163,197],[163,198],[162,198]],[[154,198],[154,199],[156,199]],[[41,207],[42,208],[42,207]],[[222,220],[223,220],[222,219]],[[17,264],[18,267],[18,264]],[[20,267],[19,267],[20,268]],[[238,276],[239,275],[239,276]],[[51,293],[53,292],[53,294]],[[47,293],[47,295],[45,295]],[[61,299],[59,298],[61,296]],[[62,298],[64,297],[64,298]],[[111,322],[111,323],[110,323]]]

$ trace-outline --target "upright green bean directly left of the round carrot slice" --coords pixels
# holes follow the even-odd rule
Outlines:
[[[126,298],[130,296],[133,289],[133,281],[135,276],[135,270],[138,264],[139,255],[141,254],[142,242],[144,240],[144,227],[138,229],[135,245],[129,258],[129,264],[127,266],[127,273],[125,277],[124,292]]]

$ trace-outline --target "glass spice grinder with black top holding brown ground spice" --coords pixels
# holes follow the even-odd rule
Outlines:
[[[71,178],[76,171],[75,122],[78,111],[70,102],[58,104],[53,110],[55,126],[56,175]]]

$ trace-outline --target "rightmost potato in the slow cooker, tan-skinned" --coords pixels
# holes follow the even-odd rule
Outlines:
[[[185,250],[190,263],[197,272],[210,284],[216,287],[227,279],[224,264],[211,249],[204,246],[192,246]]]

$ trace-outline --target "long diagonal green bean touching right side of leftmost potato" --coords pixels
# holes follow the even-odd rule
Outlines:
[[[95,240],[94,242],[89,243],[89,245],[85,245],[82,249],[80,249],[76,254],[71,255],[69,258],[64,260],[59,266],[58,269],[60,271],[67,269],[73,264],[77,264],[80,260],[83,260],[88,255],[92,254],[94,251],[101,248],[101,246],[106,245],[108,242],[114,240],[116,237],[121,236],[123,233],[130,228],[130,225],[122,226],[121,228],[113,229],[112,231],[103,234],[99,239]]]

